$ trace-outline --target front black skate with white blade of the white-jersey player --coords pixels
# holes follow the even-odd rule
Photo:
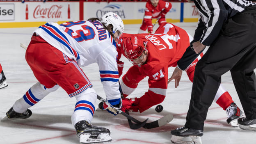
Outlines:
[[[112,138],[110,137],[110,130],[107,128],[93,126],[85,120],[76,123],[75,130],[81,144],[112,141]]]

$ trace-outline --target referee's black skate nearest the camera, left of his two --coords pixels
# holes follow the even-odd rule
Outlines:
[[[185,126],[171,130],[171,142],[174,144],[202,144],[201,136],[203,136],[203,130]]]

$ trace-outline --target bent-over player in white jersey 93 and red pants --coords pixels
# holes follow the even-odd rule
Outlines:
[[[6,113],[7,119],[27,119],[32,114],[29,107],[62,87],[76,98],[71,119],[80,143],[111,141],[110,130],[91,125],[97,94],[80,66],[98,64],[106,94],[103,108],[109,112],[120,109],[115,40],[123,29],[123,21],[112,12],[101,20],[90,18],[60,25],[49,22],[38,27],[25,58],[39,82],[14,103]]]

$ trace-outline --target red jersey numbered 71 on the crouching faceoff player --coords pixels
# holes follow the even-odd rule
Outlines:
[[[190,37],[185,30],[171,23],[160,26],[155,34],[122,34],[118,40],[118,47],[123,55],[123,41],[132,35],[147,41],[148,57],[146,64],[141,67],[133,65],[127,71],[122,78],[125,86],[121,86],[123,93],[127,96],[133,92],[139,81],[149,76],[149,91],[140,98],[138,104],[139,111],[143,112],[164,100],[167,90],[168,67],[177,66],[178,60],[190,45]],[[152,97],[154,98],[152,99]]]

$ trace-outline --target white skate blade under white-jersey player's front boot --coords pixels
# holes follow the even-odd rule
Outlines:
[[[80,138],[80,144],[96,144],[101,142],[110,142],[112,141],[112,138],[108,133],[101,133],[98,135],[97,139],[90,138],[91,134],[81,134],[79,136]]]

